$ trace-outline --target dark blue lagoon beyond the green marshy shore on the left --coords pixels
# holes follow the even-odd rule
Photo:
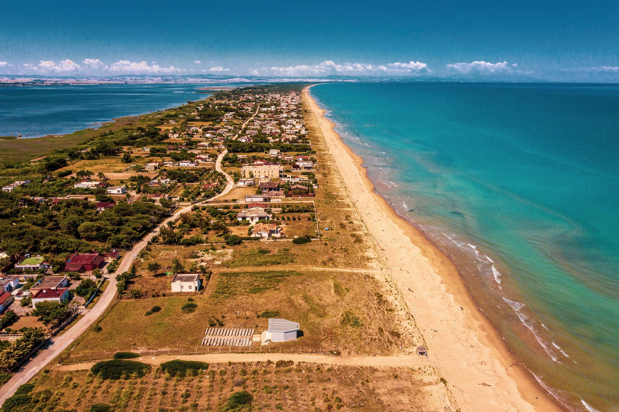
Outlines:
[[[0,87],[0,136],[72,133],[112,118],[180,106],[214,84],[105,84]],[[228,86],[228,85],[226,85]]]

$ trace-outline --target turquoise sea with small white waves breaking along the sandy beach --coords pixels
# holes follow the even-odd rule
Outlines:
[[[619,85],[311,88],[566,408],[619,409]]]

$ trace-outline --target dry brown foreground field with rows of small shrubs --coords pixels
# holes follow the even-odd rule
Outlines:
[[[430,404],[451,410],[443,409],[449,405],[446,395],[431,397],[436,388],[445,392],[436,376],[404,367],[266,361],[209,364],[197,376],[170,377],[154,366],[144,377],[128,380],[52,368],[32,383],[40,410],[51,410],[53,405],[87,412],[95,403],[106,403],[116,412],[223,411],[228,397],[239,391],[251,394],[243,411],[438,410]]]

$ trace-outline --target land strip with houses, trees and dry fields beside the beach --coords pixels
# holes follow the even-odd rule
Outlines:
[[[69,410],[456,410],[300,86],[114,126],[0,178],[0,384],[51,356],[28,385]]]

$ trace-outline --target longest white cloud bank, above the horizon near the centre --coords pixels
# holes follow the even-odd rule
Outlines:
[[[250,74],[257,74],[258,69],[253,69]],[[422,72],[430,72],[428,65],[422,62],[408,63],[389,63],[374,66],[366,63],[344,63],[337,64],[331,60],[323,61],[313,66],[300,64],[298,66],[288,67],[271,67],[271,72],[284,76],[303,76],[303,75],[331,75],[331,74],[416,74]]]

